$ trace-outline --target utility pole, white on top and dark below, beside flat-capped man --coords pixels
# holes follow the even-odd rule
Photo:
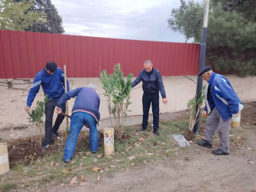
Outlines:
[[[208,25],[208,12],[209,12],[209,4],[210,0],[204,0],[205,7],[204,7],[204,24],[203,24],[203,36],[201,38],[201,48],[200,48],[200,58],[199,58],[199,71],[201,71],[201,68],[204,68],[204,61],[205,61],[205,52],[206,52],[206,36],[207,36],[207,25]],[[203,87],[203,79],[198,77],[198,84],[197,84],[197,100],[201,95]],[[197,112],[200,110],[198,108],[198,105],[195,107],[195,111]],[[194,124],[194,129],[193,132],[194,134],[198,134],[198,128],[199,128],[199,118],[200,118],[200,113],[198,114],[197,118],[197,123]]]

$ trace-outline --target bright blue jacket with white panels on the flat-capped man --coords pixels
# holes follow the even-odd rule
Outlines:
[[[232,114],[238,114],[243,105],[228,79],[221,74],[212,72],[205,89],[204,111],[208,111],[210,114],[214,107],[218,109],[221,118],[226,121],[232,117]]]

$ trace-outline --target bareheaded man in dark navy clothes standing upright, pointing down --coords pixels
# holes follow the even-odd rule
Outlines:
[[[148,126],[148,112],[152,104],[153,112],[153,127],[154,134],[158,135],[159,123],[159,91],[164,104],[167,104],[165,95],[165,88],[161,79],[160,71],[153,68],[152,61],[146,60],[144,62],[144,70],[138,75],[135,81],[132,82],[131,88],[134,88],[140,81],[142,81],[142,89],[144,91],[142,96],[143,105],[143,121],[142,127],[138,131],[145,131]]]

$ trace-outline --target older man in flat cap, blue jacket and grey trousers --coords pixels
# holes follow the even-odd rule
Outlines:
[[[205,124],[205,135],[203,141],[197,144],[211,148],[214,132],[218,129],[220,137],[220,147],[212,154],[229,154],[229,131],[231,129],[231,118],[238,117],[243,105],[234,92],[230,82],[223,75],[214,73],[211,67],[206,66],[201,69],[198,76],[204,81],[208,81],[205,89],[205,107],[203,117],[208,117]]]

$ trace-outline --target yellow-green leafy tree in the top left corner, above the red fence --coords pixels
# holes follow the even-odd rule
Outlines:
[[[30,8],[34,5],[33,0],[26,2],[2,0],[0,2],[0,28],[24,31],[35,23],[44,23],[45,12],[31,11]]]

